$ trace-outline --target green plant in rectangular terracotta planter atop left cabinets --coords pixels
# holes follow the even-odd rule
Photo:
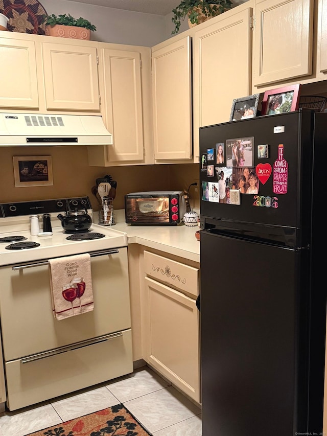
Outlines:
[[[91,31],[97,30],[90,21],[80,17],[74,18],[71,14],[56,16],[44,15],[45,35],[60,36],[63,38],[90,39]]]

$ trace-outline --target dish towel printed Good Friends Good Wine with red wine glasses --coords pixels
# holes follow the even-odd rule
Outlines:
[[[54,317],[59,320],[93,310],[90,255],[49,259],[49,265]]]

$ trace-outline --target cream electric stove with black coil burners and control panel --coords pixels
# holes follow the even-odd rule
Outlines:
[[[71,240],[77,234],[65,233],[57,218],[69,204],[92,217],[88,197],[0,204],[0,322],[9,410],[133,371],[127,236],[92,223],[78,233],[87,239]],[[31,236],[30,216],[39,215],[41,224],[43,213],[51,215],[53,234]],[[49,259],[68,261],[84,253],[91,259],[94,310],[57,320]]]

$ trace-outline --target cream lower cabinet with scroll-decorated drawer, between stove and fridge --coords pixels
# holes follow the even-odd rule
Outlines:
[[[200,403],[199,269],[144,251],[143,359]]]

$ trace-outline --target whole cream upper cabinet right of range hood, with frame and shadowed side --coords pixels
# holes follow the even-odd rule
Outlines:
[[[99,47],[102,115],[113,145],[89,148],[89,165],[153,164],[150,48]]]

